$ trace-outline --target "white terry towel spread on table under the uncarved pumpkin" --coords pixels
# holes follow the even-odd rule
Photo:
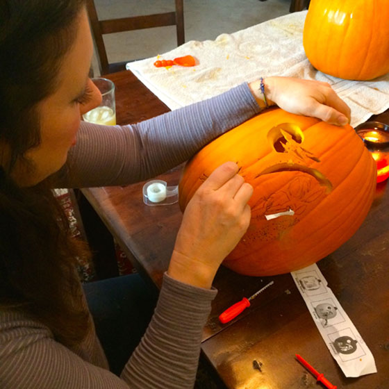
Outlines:
[[[302,44],[307,11],[268,20],[215,40],[190,41],[158,57],[127,64],[170,109],[220,94],[260,76],[293,76],[326,81],[351,108],[351,126],[389,108],[389,74],[373,81],[349,81],[318,72]],[[195,67],[155,67],[158,59],[192,55]],[[352,58],[350,58],[352,62]]]

